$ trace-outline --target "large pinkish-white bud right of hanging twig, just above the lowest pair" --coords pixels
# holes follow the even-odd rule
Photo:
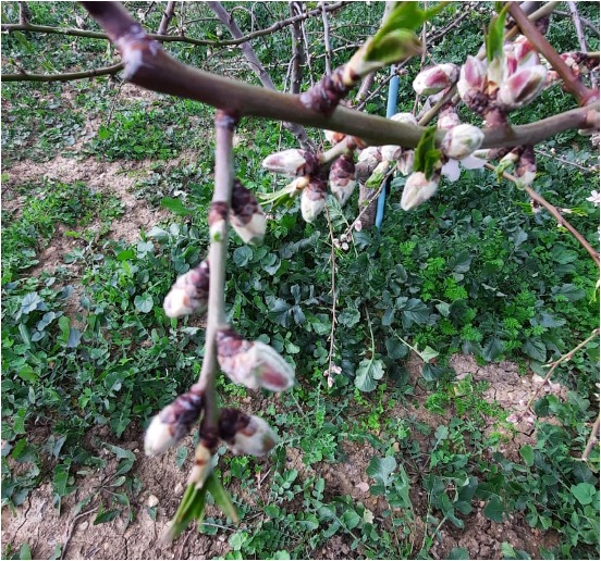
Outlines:
[[[250,389],[284,391],[294,385],[294,370],[275,350],[243,339],[231,327],[217,333],[217,360],[232,382]]]

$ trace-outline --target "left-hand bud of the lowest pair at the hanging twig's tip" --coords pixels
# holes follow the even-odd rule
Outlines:
[[[188,391],[177,396],[175,401],[167,406],[156,415],[144,437],[146,456],[158,456],[174,446],[191,431],[203,411],[205,399],[203,394]]]

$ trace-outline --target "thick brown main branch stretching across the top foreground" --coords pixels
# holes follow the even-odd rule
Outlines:
[[[162,94],[208,103],[240,117],[257,116],[289,121],[304,126],[339,130],[375,146],[400,145],[415,148],[425,128],[396,123],[376,115],[338,107],[331,115],[307,109],[297,96],[250,86],[186,66],[167,54],[157,41],[144,34],[125,9],[116,2],[83,2],[106,28],[125,62],[125,78]],[[482,148],[536,145],[572,128],[599,126],[599,103],[553,115],[537,123],[485,129]],[[444,132],[437,134],[440,141]]]

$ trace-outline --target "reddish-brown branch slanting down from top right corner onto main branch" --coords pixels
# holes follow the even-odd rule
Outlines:
[[[530,20],[528,20],[528,16],[522,11],[518,3],[510,2],[510,13],[522,29],[522,33],[528,38],[537,51],[549,61],[553,70],[563,79],[565,89],[578,100],[581,107],[599,100],[599,89],[587,88],[585,83],[578,76],[574,75],[557,51]]]

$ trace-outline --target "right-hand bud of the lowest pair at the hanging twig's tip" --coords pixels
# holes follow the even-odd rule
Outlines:
[[[236,454],[263,456],[278,441],[275,433],[260,416],[229,408],[220,410],[219,436]]]

